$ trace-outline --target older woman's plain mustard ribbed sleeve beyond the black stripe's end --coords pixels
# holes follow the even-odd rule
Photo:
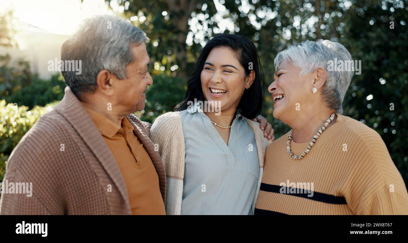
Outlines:
[[[379,134],[361,129],[347,204],[355,214],[408,214],[408,193]]]

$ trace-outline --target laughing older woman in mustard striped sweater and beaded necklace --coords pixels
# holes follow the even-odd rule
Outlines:
[[[384,141],[341,115],[353,72],[330,71],[336,60],[352,58],[328,40],[277,54],[268,91],[273,116],[292,130],[266,150],[255,214],[408,214],[407,190]]]

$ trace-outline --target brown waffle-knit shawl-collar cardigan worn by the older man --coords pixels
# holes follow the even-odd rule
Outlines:
[[[153,161],[165,202],[166,174],[149,130],[133,114],[126,117]],[[32,182],[32,197],[2,194],[0,214],[131,214],[120,169],[69,87],[13,150],[5,180]]]

